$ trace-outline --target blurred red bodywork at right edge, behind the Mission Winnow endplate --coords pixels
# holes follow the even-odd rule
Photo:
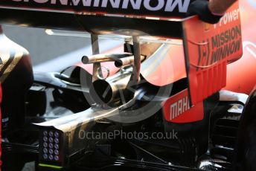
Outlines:
[[[249,94],[256,84],[256,1],[240,1],[243,57],[228,65],[225,89]]]

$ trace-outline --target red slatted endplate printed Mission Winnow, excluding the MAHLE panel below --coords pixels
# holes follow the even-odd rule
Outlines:
[[[238,1],[216,25],[197,16],[183,22],[183,42],[191,105],[220,91],[228,62],[243,54]]]

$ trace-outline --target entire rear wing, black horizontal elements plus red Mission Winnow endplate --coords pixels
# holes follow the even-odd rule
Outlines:
[[[185,17],[190,0],[1,0],[0,22],[181,39],[191,105],[225,87],[226,65],[243,54],[238,1],[217,25]]]

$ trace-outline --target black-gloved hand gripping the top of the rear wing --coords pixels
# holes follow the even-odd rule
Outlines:
[[[209,2],[207,0],[193,1],[188,7],[187,16],[198,15],[199,19],[201,19],[203,22],[208,22],[211,24],[219,22],[222,16],[217,16],[211,13],[208,4]]]

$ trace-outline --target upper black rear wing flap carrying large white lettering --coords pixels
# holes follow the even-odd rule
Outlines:
[[[61,13],[184,17],[193,0],[1,0],[1,6]]]

